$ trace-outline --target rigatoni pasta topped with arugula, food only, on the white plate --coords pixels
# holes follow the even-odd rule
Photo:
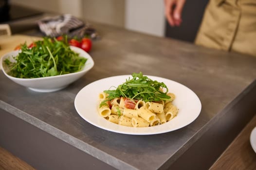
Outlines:
[[[168,92],[164,83],[152,81],[142,73],[133,73],[132,77],[116,90],[99,94],[100,116],[130,127],[156,126],[177,116],[175,94]]]

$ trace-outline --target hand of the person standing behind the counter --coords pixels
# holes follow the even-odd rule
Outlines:
[[[186,0],[165,0],[165,16],[172,27],[181,25],[181,16],[185,1]]]

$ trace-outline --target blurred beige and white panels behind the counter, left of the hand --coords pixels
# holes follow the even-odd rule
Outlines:
[[[164,36],[163,0],[10,0],[10,3]]]

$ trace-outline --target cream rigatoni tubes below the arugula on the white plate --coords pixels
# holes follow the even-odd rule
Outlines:
[[[134,103],[134,109],[129,109],[126,108],[125,98],[116,98],[113,101],[105,102],[105,105],[98,108],[100,116],[113,123],[130,127],[164,124],[177,116],[179,110],[172,102],[144,102],[139,100]]]

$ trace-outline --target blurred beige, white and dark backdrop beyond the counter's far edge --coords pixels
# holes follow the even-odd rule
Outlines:
[[[9,0],[10,4],[106,23],[129,30],[193,42],[208,0],[187,0],[183,23],[165,20],[164,0]]]

